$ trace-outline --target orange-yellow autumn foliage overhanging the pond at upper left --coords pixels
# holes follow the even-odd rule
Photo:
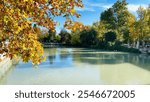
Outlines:
[[[11,59],[20,56],[24,62],[39,64],[43,59],[43,47],[38,41],[39,27],[54,31],[55,16],[67,18],[67,24],[73,29],[76,22],[69,16],[80,17],[75,7],[83,7],[82,0],[1,0],[0,1],[0,39],[1,53]],[[35,22],[38,27],[32,27]],[[4,43],[9,41],[6,46]]]

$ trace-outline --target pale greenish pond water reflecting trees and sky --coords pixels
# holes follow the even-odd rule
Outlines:
[[[47,60],[12,66],[0,84],[150,84],[150,56],[82,48],[45,49]]]

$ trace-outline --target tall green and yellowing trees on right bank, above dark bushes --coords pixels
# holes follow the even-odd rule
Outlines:
[[[100,21],[95,23],[95,29],[101,35],[101,40],[107,32],[116,32],[116,42],[126,43],[139,48],[140,42],[150,37],[150,7],[139,7],[138,18],[127,9],[126,0],[118,0],[111,8],[101,13]],[[144,44],[143,44],[144,45]]]

